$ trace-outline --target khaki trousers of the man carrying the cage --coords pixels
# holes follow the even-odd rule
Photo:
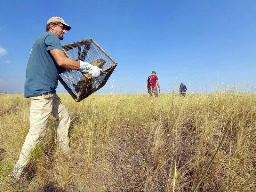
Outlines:
[[[16,163],[12,173],[17,178],[26,177],[25,167],[31,151],[46,135],[50,115],[56,118],[56,133],[59,148],[68,153],[68,129],[70,116],[68,109],[61,103],[56,93],[49,92],[35,97],[30,97],[30,129],[25,142],[21,148],[20,158]]]

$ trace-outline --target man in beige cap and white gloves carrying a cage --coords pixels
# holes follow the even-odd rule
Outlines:
[[[71,27],[60,17],[52,17],[46,22],[46,32],[35,41],[28,59],[24,97],[30,99],[30,129],[21,148],[20,157],[11,173],[13,184],[24,184],[31,151],[46,134],[50,115],[56,118],[58,148],[68,153],[68,130],[70,116],[68,109],[56,94],[60,66],[69,70],[79,70],[92,75],[96,80],[101,69],[83,61],[65,56],[60,40]]]

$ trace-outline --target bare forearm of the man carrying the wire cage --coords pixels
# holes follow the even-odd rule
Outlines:
[[[70,69],[70,70],[79,69],[79,66],[80,66],[79,62],[66,57],[66,55],[64,54],[64,51],[60,49],[52,49],[50,50],[50,53],[52,54],[52,57],[54,58],[54,60],[59,66],[64,67],[66,69]]]

